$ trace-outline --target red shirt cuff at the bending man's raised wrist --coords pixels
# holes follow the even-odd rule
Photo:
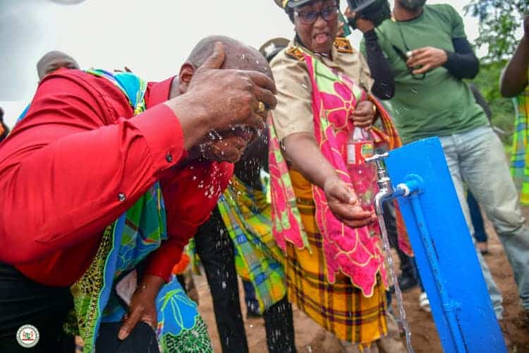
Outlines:
[[[130,119],[147,140],[154,166],[167,169],[186,155],[180,121],[171,108],[158,104]]]

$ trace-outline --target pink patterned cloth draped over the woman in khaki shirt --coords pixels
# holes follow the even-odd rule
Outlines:
[[[356,104],[368,99],[367,94],[352,80],[317,61],[308,54],[304,54],[305,62],[312,83],[312,111],[314,114],[315,137],[322,154],[331,162],[337,174],[343,181],[351,184],[348,175],[345,155],[346,141],[353,129],[353,122],[348,116],[353,112]],[[378,108],[384,132],[372,129],[375,143],[387,143],[390,149],[399,147],[401,141],[382,104],[370,97]],[[292,205],[291,181],[288,178],[286,163],[281,160],[281,149],[271,126],[270,171],[272,174],[272,219],[274,237],[279,246],[284,249],[286,241],[293,243],[298,249],[304,246],[304,234],[293,230],[296,225],[296,205]],[[278,192],[279,191],[279,192]],[[352,229],[334,217],[327,206],[324,192],[313,187],[313,201],[315,202],[315,217],[323,241],[322,251],[325,254],[324,263],[327,264],[327,279],[330,283],[336,280],[336,274],[343,273],[355,286],[360,288],[366,297],[373,294],[377,277],[386,281],[384,270],[384,256],[382,255],[377,225]],[[290,195],[290,197],[286,197]],[[289,222],[286,222],[289,221]],[[403,231],[403,222],[399,220],[399,229]],[[303,229],[301,226],[299,229]],[[287,229],[285,231],[284,229]],[[400,241],[409,252],[406,241]],[[358,246],[361,244],[361,246]]]

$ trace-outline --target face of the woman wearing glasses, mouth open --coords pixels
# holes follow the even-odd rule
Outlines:
[[[308,49],[312,52],[329,53],[339,27],[336,1],[315,1],[296,8],[294,26]]]

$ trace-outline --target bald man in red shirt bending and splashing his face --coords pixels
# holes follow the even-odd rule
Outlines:
[[[59,70],[42,80],[0,147],[0,351],[16,349],[25,323],[41,331],[42,352],[58,351],[68,287],[92,263],[104,229],[159,181],[169,239],[142,262],[118,336],[140,321],[156,327],[160,287],[224,190],[229,162],[275,107],[269,68],[249,60],[252,51],[225,37],[203,40],[178,78],[148,86],[147,110],[135,116],[105,78]]]

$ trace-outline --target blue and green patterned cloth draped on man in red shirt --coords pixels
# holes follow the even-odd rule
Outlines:
[[[128,97],[135,114],[145,110],[147,83],[131,73],[115,76],[101,70],[88,73],[115,83]],[[94,261],[72,287],[78,330],[84,352],[93,352],[99,324],[121,321],[126,313],[114,287],[167,239],[162,190],[154,184],[126,214],[104,231]],[[188,299],[174,278],[157,297],[157,335],[162,352],[212,352],[207,328],[196,304]],[[174,350],[176,349],[176,350]]]

